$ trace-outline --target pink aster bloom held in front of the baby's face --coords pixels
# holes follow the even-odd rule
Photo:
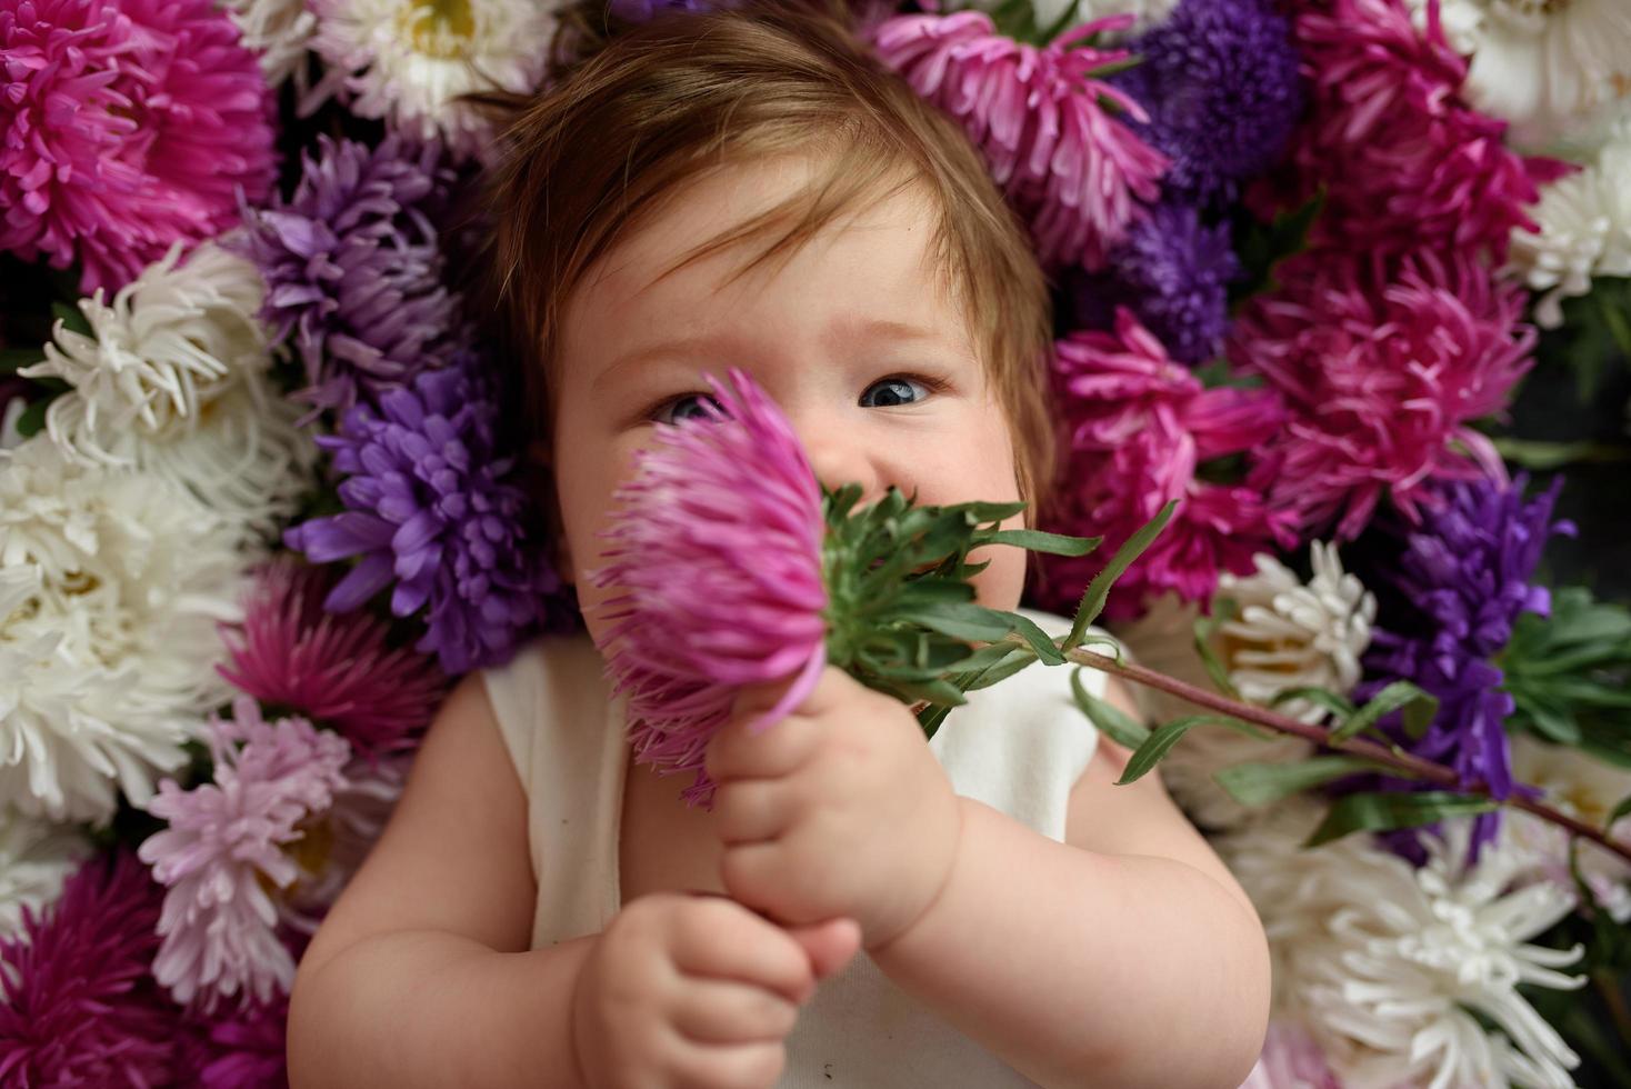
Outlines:
[[[768,729],[816,686],[827,662],[820,484],[786,417],[742,370],[732,388],[706,375],[718,404],[659,424],[618,487],[608,564],[589,574],[621,593],[597,646],[613,694],[628,693],[636,758],[664,774],[695,771],[687,802],[708,805],[708,738],[736,690],[794,677],[754,724]],[[683,633],[683,637],[675,637]]]

